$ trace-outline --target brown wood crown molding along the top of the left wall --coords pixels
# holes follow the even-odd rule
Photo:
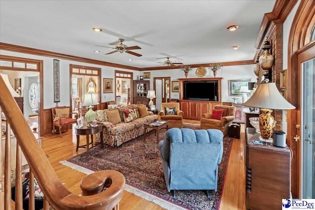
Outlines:
[[[82,58],[78,56],[71,56],[71,55],[51,52],[47,50],[39,50],[35,48],[30,48],[30,47],[7,44],[3,42],[0,42],[0,50],[7,50],[7,51],[18,52],[18,53],[26,53],[26,54],[45,56],[45,57],[51,57],[51,58],[59,58],[59,59],[64,59],[64,60],[74,60],[78,62],[92,63],[92,64],[97,64],[97,65],[105,65],[105,66],[111,66],[115,68],[124,68],[124,69],[139,71],[139,68],[134,67],[134,66],[122,65],[122,64],[117,64],[117,63],[101,61],[101,60],[86,59],[86,58]]]

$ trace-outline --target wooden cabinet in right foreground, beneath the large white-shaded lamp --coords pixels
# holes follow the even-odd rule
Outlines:
[[[282,199],[291,194],[290,150],[265,142],[253,145],[259,136],[254,128],[246,128],[246,208],[279,210]]]

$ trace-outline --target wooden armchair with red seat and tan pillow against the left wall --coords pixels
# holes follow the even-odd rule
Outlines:
[[[67,126],[66,131],[68,130],[68,125],[72,125],[77,122],[79,117],[78,113],[70,112],[70,108],[66,106],[54,107],[51,108],[52,119],[53,119],[53,134],[55,134],[55,126],[59,127],[59,134],[62,137],[62,127]],[[73,118],[74,115],[74,118]]]

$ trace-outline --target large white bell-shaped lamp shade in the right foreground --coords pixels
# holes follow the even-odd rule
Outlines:
[[[259,83],[252,97],[243,105],[262,109],[295,109],[295,106],[281,95],[276,83]]]

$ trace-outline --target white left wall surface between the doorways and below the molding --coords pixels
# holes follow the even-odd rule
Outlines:
[[[44,109],[49,109],[51,107],[55,107],[56,103],[54,103],[54,81],[53,81],[53,60],[55,58],[43,57],[43,56],[35,56],[31,54],[24,54],[24,53],[16,53],[11,51],[0,50],[1,55],[6,56],[15,56],[21,58],[29,58],[29,59],[36,59],[36,60],[43,60],[44,66]],[[133,79],[136,80],[139,76],[139,71],[122,69],[122,68],[114,68],[109,66],[102,66],[102,65],[95,65],[91,63],[84,63],[84,62],[76,62],[72,60],[60,60],[60,99],[61,102],[58,103],[59,106],[69,106],[70,105],[70,86],[69,86],[69,78],[70,78],[70,70],[69,64],[75,65],[84,65],[84,66],[91,66],[101,68],[101,87],[103,87],[103,80],[102,78],[114,78],[115,77],[115,70],[121,71],[129,71],[133,72]],[[14,84],[14,83],[13,83]],[[101,89],[103,91],[103,89]],[[115,92],[113,93],[102,93],[101,92],[101,101],[114,101],[115,100]]]

